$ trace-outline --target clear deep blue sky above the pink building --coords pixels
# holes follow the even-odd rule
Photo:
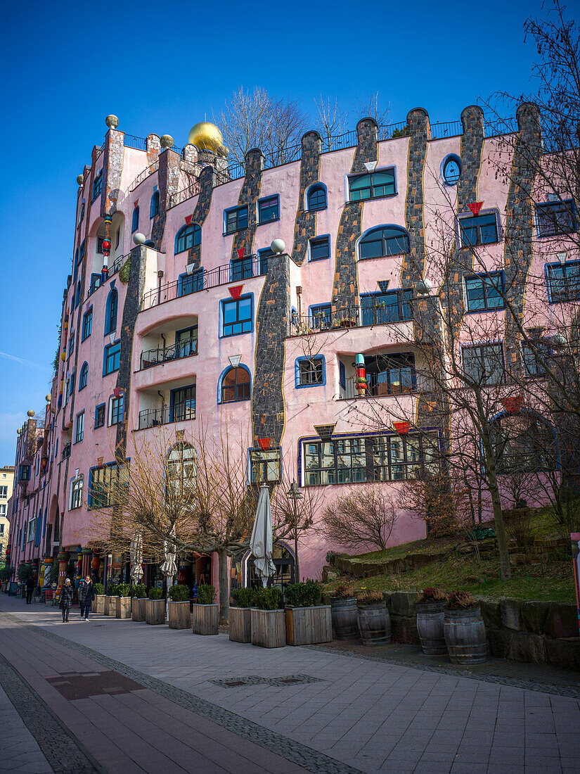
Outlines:
[[[234,89],[259,85],[312,114],[321,93],[352,108],[378,91],[389,122],[417,106],[452,121],[496,90],[527,91],[531,14],[541,0],[5,2],[0,464],[49,392],[76,178],[108,113],[183,146]]]

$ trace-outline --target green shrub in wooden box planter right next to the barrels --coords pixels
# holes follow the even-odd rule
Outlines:
[[[305,580],[285,588],[286,644],[316,645],[333,639],[330,605],[322,601],[322,586]]]

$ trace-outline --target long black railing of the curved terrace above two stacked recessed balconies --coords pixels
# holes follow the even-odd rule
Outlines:
[[[192,274],[183,276],[180,279],[174,279],[171,283],[162,285],[159,288],[145,293],[141,303],[141,310],[158,307],[160,303],[174,301],[181,296],[189,296],[191,293],[198,293],[200,290],[217,287],[218,285],[230,285],[230,283],[244,282],[244,279],[264,275],[268,270],[268,261],[275,256],[258,259],[244,259],[243,264],[227,263],[223,266],[217,266],[216,269],[205,271],[197,269]]]

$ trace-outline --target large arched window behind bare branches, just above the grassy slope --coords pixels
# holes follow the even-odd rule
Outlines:
[[[551,426],[533,413],[505,413],[490,422],[497,473],[551,471],[558,450]]]

